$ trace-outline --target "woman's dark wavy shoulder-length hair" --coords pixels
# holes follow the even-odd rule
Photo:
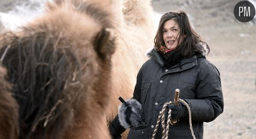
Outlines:
[[[188,15],[184,11],[168,11],[164,15],[162,15],[159,22],[157,34],[154,38],[154,48],[158,51],[161,46],[165,45],[162,37],[162,29],[164,23],[171,19],[173,19],[180,27],[179,36],[185,36],[183,41],[181,41],[181,44],[177,46],[174,51],[180,53],[180,55],[184,57],[191,57],[194,54],[199,54],[200,50],[197,48],[196,44],[200,42],[205,42],[202,41],[200,35],[198,35],[196,31],[193,30],[188,20]],[[181,38],[179,38],[179,41],[180,39]]]

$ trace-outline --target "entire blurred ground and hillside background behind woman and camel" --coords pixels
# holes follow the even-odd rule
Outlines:
[[[0,0],[0,12],[21,1]],[[205,139],[256,139],[256,25],[235,19],[233,8],[239,1],[152,0],[161,15],[179,9],[188,13],[211,48],[207,59],[221,73],[224,113],[204,124]]]

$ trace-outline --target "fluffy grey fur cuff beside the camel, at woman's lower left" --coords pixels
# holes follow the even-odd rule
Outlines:
[[[142,105],[139,103],[139,101],[133,98],[127,99],[125,100],[125,102],[132,108],[132,114],[130,116],[131,124],[129,124],[126,121],[127,105],[125,105],[124,103],[119,105],[119,108],[118,108],[118,118],[119,118],[120,124],[126,129],[130,127],[138,127],[143,122],[143,119],[144,119]]]

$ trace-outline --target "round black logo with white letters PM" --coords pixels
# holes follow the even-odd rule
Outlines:
[[[252,0],[251,0],[252,1]],[[255,5],[255,2],[252,1]],[[234,15],[236,19],[240,22],[249,22],[255,16],[255,7],[249,1],[240,1],[234,8]]]

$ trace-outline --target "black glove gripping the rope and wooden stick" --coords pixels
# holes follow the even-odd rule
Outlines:
[[[181,102],[179,102],[179,105],[167,105],[167,108],[172,109],[171,112],[171,119],[177,120],[179,118],[183,118],[188,115],[187,108],[185,105],[183,105]]]

